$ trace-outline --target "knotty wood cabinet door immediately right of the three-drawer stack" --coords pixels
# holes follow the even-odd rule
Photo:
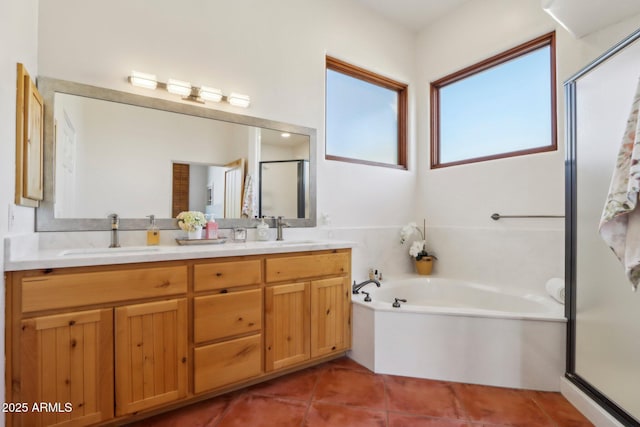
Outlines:
[[[270,286],[265,295],[266,370],[308,360],[309,282]]]

